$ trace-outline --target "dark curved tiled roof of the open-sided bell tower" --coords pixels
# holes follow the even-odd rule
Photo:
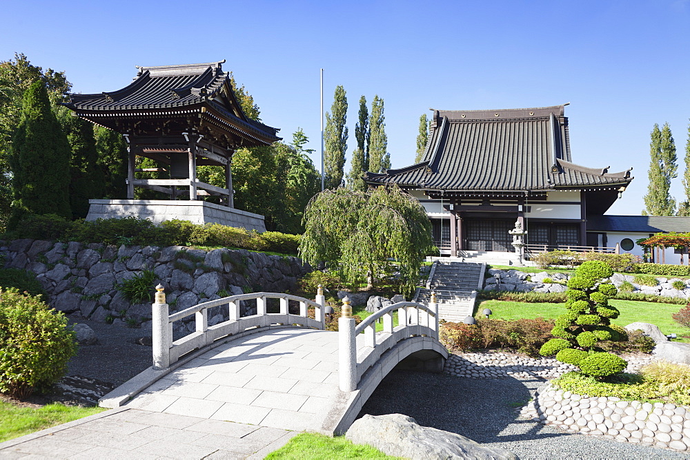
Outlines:
[[[273,142],[277,129],[248,118],[232,91],[229,91],[234,111],[215,101],[221,90],[230,87],[230,74],[223,72],[225,61],[202,64],[160,65],[137,67],[134,81],[121,90],[100,94],[70,94],[65,103],[79,116],[105,116],[108,112],[121,114],[141,110],[200,111],[202,106],[219,112],[232,125],[246,129],[259,138]]]

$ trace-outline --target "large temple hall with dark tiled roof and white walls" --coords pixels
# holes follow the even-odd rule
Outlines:
[[[434,110],[421,163],[364,176],[420,200],[446,255],[513,251],[508,232],[517,220],[528,249],[602,250],[606,233],[588,220],[602,216],[632,179],[630,170],[573,163],[564,105]]]

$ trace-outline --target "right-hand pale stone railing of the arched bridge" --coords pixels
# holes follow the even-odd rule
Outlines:
[[[397,326],[393,313],[397,312]],[[376,332],[381,319],[383,331]],[[438,305],[431,295],[428,305],[417,302],[397,302],[386,306],[355,326],[348,297],[343,299],[342,317],[338,319],[339,386],[342,391],[354,391],[362,375],[398,342],[413,336],[438,339]],[[357,342],[363,348],[357,350]],[[372,353],[373,352],[373,353]]]

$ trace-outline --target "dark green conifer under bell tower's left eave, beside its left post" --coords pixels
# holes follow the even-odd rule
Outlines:
[[[103,175],[103,196],[111,200],[127,198],[127,143],[119,132],[94,127],[98,166]]]

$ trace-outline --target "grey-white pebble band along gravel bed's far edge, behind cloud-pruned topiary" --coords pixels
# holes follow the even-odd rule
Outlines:
[[[626,372],[635,372],[651,362],[651,355],[623,356],[627,359]],[[444,372],[455,377],[472,379],[555,379],[575,366],[556,361],[555,358],[533,358],[517,353],[486,351],[449,355]]]

